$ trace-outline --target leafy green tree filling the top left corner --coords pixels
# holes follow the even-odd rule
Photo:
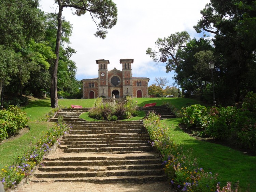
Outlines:
[[[0,61],[1,77],[4,78],[0,79],[0,85],[13,81],[12,75],[28,79],[19,73],[26,65],[20,50],[26,49],[31,39],[42,40],[43,13],[37,9],[38,6],[38,0],[0,1],[0,54],[6,57]]]

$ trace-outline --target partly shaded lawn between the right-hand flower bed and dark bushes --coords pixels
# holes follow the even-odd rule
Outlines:
[[[165,119],[163,123],[171,128],[170,137],[182,145],[184,154],[191,154],[197,159],[199,168],[219,174],[219,181],[236,183],[239,181],[241,191],[256,189],[256,157],[248,156],[229,147],[199,141],[179,128],[180,119]],[[188,151],[188,152],[187,152]],[[250,185],[250,186],[249,186]]]

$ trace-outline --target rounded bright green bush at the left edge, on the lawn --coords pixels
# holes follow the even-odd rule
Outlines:
[[[0,119],[0,141],[17,134],[28,122],[26,113],[14,105],[9,105],[7,110],[0,110]]]

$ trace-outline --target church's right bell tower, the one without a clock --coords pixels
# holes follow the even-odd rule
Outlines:
[[[132,73],[131,64],[133,59],[120,59],[123,71],[123,97],[132,95]]]

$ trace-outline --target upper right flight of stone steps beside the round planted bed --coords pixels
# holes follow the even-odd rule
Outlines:
[[[138,110],[143,110],[146,112],[146,116],[148,116],[148,112],[155,112],[157,115],[160,115],[160,119],[169,119],[169,118],[175,118],[175,115],[173,115],[169,109],[163,106],[152,106],[152,107],[139,107]]]

